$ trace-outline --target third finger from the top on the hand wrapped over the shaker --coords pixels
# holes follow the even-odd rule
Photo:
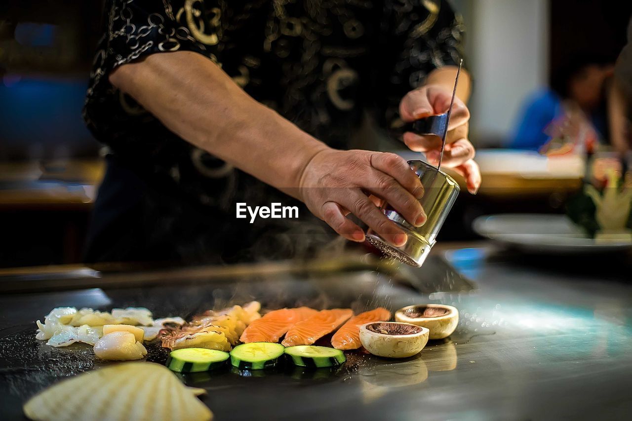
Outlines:
[[[406,233],[384,216],[384,213],[375,207],[373,202],[368,200],[368,197],[363,195],[359,190],[341,197],[338,201],[347,209],[351,210],[351,213],[360,218],[365,224],[372,228],[375,233],[384,238],[384,240],[396,247],[401,247],[406,244]]]

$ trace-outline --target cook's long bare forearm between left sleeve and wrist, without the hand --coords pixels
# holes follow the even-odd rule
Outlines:
[[[195,52],[152,54],[110,82],[186,141],[295,196],[307,163],[327,149]]]

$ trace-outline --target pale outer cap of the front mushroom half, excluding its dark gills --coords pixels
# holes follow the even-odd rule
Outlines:
[[[367,329],[368,325],[375,323],[376,322],[369,322],[360,326],[360,342],[362,342],[362,346],[367,348],[367,351],[378,357],[412,357],[423,350],[423,347],[428,343],[428,329],[425,327],[420,327],[421,331],[415,334],[391,335],[377,333]],[[408,323],[399,322],[384,323],[410,325]]]

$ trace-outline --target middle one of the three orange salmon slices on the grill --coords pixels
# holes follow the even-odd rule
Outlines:
[[[336,330],[353,315],[350,308],[321,310],[292,326],[281,342],[284,346],[312,345],[327,333]]]

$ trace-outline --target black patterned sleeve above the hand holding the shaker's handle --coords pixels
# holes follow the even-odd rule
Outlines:
[[[380,54],[384,63],[374,82],[379,120],[389,128],[399,118],[399,101],[422,86],[428,74],[458,66],[465,25],[446,0],[386,0]]]

